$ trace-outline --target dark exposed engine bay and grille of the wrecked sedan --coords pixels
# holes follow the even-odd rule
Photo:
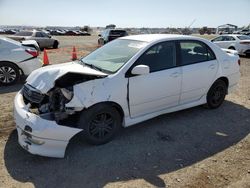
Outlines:
[[[65,125],[68,119],[77,121],[75,116],[71,117],[77,115],[78,111],[65,106],[74,96],[73,85],[98,78],[101,77],[67,73],[56,80],[55,86],[46,94],[26,83],[22,89],[22,95],[25,104],[30,104],[33,113],[37,115],[49,114],[51,120],[55,120],[57,124]]]

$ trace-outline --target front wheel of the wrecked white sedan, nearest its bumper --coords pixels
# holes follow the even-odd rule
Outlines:
[[[82,139],[94,145],[105,144],[121,127],[121,116],[114,107],[97,104],[82,112],[78,125],[83,129]]]

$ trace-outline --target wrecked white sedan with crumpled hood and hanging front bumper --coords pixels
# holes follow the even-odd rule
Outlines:
[[[27,78],[14,103],[18,141],[30,153],[63,157],[77,133],[104,144],[122,126],[202,104],[218,108],[239,78],[239,56],[205,39],[119,38]]]

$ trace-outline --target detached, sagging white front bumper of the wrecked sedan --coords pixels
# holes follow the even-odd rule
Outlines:
[[[32,154],[63,158],[69,140],[82,129],[58,125],[49,117],[31,113],[29,104],[23,102],[22,94],[17,93],[14,118],[19,144]]]

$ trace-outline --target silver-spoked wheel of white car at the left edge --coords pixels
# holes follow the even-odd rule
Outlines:
[[[12,63],[0,62],[0,85],[13,85],[20,79],[18,67]]]

